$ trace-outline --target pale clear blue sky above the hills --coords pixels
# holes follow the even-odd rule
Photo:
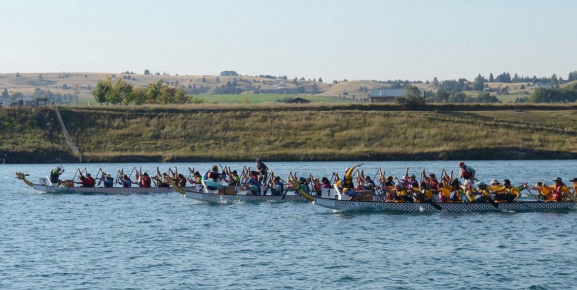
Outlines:
[[[0,73],[567,79],[577,1],[3,1]]]

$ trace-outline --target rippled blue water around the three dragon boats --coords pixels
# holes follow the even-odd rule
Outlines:
[[[266,160],[265,160],[266,161]],[[268,163],[330,176],[356,163]],[[485,182],[569,180],[575,161],[469,161]],[[205,204],[168,194],[39,194],[56,164],[0,165],[1,289],[568,289],[577,210],[333,212],[310,203]],[[80,164],[64,164],[70,178]],[[82,164],[89,172],[142,165]],[[223,163],[224,165],[224,163]],[[230,164],[240,170],[242,165]],[[457,161],[366,162],[402,176]],[[299,174],[301,175],[301,174]],[[304,175],[304,174],[302,174]],[[568,183],[568,182],[567,182]]]

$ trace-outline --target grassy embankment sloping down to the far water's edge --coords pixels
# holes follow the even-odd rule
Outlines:
[[[83,162],[576,159],[575,106],[61,108]],[[533,109],[533,110],[531,110]],[[10,162],[77,161],[54,111],[2,109]]]

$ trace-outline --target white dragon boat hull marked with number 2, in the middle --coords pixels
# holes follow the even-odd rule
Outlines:
[[[174,190],[183,194],[185,197],[192,198],[203,202],[246,202],[246,201],[301,201],[305,202],[306,198],[302,193],[304,191],[299,189],[299,194],[284,194],[284,195],[245,195],[238,194],[245,191],[238,191],[235,186],[224,186],[224,193],[219,194],[217,190],[208,189],[204,184],[196,184],[196,186],[179,187],[173,180],[169,180]]]

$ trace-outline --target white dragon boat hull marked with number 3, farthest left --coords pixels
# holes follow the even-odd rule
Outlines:
[[[40,178],[38,183],[29,182],[24,172],[14,172],[16,178],[22,180],[28,186],[42,193],[173,193],[172,187],[81,187],[74,186],[73,180],[63,180],[64,186],[57,186],[48,178]]]

